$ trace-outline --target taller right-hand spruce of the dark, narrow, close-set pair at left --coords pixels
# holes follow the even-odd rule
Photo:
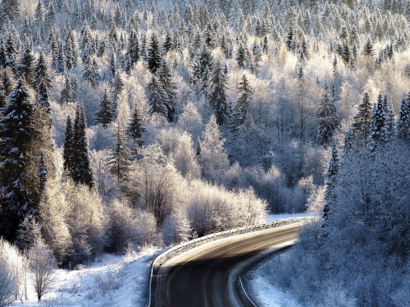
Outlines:
[[[73,172],[71,176],[75,183],[82,183],[91,188],[94,185],[94,179],[91,170],[84,106],[80,108],[77,105],[73,126],[73,141],[73,151],[71,153]]]

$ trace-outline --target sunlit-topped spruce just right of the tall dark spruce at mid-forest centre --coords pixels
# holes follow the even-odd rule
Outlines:
[[[233,106],[230,120],[230,131],[233,133],[238,133],[250,117],[253,89],[249,85],[246,75],[243,75],[239,82],[238,94],[240,96]]]

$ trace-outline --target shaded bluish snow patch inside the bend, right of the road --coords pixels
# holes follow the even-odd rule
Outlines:
[[[258,307],[301,307],[292,297],[273,285],[271,265],[266,262],[258,264],[249,271],[244,279],[244,287],[248,296]]]

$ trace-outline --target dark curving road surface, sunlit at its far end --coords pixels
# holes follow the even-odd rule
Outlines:
[[[257,255],[296,239],[301,223],[209,242],[163,264],[153,275],[151,307],[239,307],[237,279]],[[246,305],[247,306],[247,305]]]

